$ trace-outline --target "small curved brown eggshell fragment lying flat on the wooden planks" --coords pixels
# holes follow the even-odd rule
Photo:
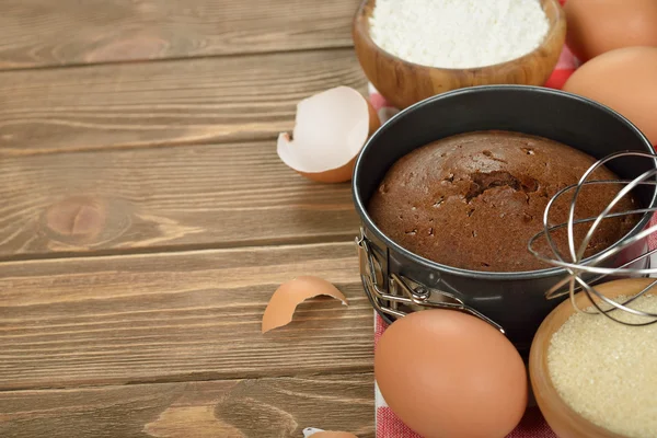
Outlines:
[[[276,289],[263,314],[262,332],[280,327],[292,321],[297,306],[309,298],[328,296],[347,306],[347,298],[331,283],[320,277],[302,276],[286,281]]]

